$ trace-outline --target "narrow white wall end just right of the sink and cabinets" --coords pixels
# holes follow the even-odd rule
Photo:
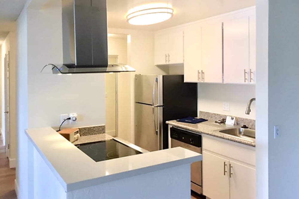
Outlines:
[[[257,67],[256,67],[256,198],[266,199],[269,197],[269,163],[268,163],[268,136],[273,135],[268,127],[270,120],[268,108],[268,20],[269,20],[269,0],[256,1],[257,18]],[[284,111],[282,111],[283,113]],[[280,115],[280,113],[279,113]],[[282,116],[282,115],[281,115]],[[288,117],[287,117],[288,118]],[[283,119],[283,117],[281,117]],[[269,132],[270,131],[270,132]],[[269,134],[269,135],[268,135]],[[284,147],[283,147],[284,148]],[[283,150],[277,146],[278,154]],[[276,155],[276,154],[275,154]],[[281,161],[277,157],[277,161]],[[278,163],[278,165],[281,165]],[[276,172],[286,172],[286,168],[281,168]],[[276,174],[274,174],[276,175]],[[277,187],[278,192],[284,189]],[[288,190],[288,189],[286,189]],[[274,197],[275,198],[275,197]],[[274,199],[273,198],[273,199]],[[283,198],[288,198],[284,197]],[[290,198],[297,198],[290,197]],[[272,198],[271,198],[272,199]]]

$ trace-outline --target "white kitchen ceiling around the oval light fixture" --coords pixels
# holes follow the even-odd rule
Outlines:
[[[172,4],[174,15],[168,21],[147,26],[134,26],[126,21],[126,14],[132,7],[157,2]],[[107,0],[108,27],[161,30],[254,5],[255,0]]]

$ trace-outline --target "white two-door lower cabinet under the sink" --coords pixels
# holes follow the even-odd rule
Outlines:
[[[202,143],[203,194],[210,199],[254,199],[255,151],[205,137]]]

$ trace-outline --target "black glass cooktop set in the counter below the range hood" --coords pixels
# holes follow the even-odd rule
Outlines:
[[[113,139],[86,144],[78,144],[76,146],[96,162],[141,153]]]

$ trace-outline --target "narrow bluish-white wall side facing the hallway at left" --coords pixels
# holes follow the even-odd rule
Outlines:
[[[27,8],[17,19],[16,30],[16,194],[28,199],[28,41]]]

